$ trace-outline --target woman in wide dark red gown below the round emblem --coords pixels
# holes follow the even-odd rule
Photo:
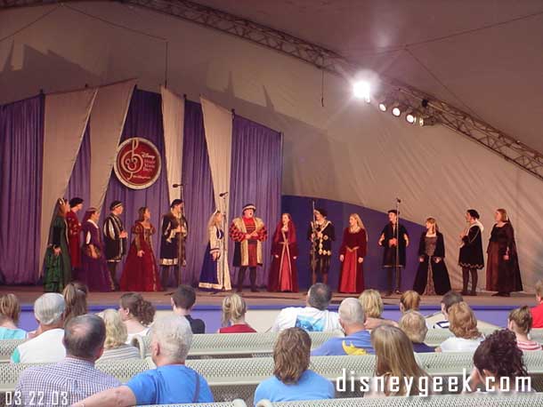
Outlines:
[[[156,229],[150,223],[149,208],[143,206],[138,213],[139,219],[132,227],[134,240],[121,275],[121,291],[160,291],[157,259],[150,240]]]

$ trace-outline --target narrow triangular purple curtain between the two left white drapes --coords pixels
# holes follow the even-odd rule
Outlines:
[[[83,211],[77,214],[79,221],[83,218],[85,208],[90,206],[91,199],[91,132],[90,132],[90,120],[86,124],[85,134],[83,140],[81,140],[81,147],[77,153],[76,164],[69,177],[68,188],[64,196],[68,199],[76,196],[83,199]]]

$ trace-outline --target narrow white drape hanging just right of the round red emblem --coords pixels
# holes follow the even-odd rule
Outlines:
[[[174,184],[182,182],[182,139],[185,119],[185,101],[174,92],[160,86],[162,95],[162,123],[166,148],[166,175],[170,202],[179,196]]]

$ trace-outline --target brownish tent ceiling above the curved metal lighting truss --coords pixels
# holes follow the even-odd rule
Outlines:
[[[543,1],[198,0],[320,44],[543,151]]]

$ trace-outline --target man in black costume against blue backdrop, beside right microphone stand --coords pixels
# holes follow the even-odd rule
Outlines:
[[[405,267],[405,250],[409,246],[409,235],[407,229],[401,224],[398,226],[398,234],[396,233],[398,211],[395,209],[388,211],[388,220],[389,222],[383,228],[379,237],[379,245],[385,248],[383,267],[386,268],[388,283],[386,295],[391,295],[393,290],[396,294],[401,294],[401,268]],[[398,261],[396,261],[396,249],[398,249],[399,254]],[[393,278],[393,274],[395,274],[395,278]]]

